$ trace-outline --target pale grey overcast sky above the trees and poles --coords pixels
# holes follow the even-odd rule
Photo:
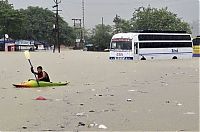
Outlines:
[[[193,25],[199,23],[200,0],[84,0],[85,1],[85,26],[94,27],[101,23],[104,17],[105,24],[113,24],[113,18],[116,14],[124,19],[130,19],[134,9],[148,5],[151,7],[168,9]],[[40,6],[52,9],[53,0],[9,0],[15,8],[26,8],[27,6]],[[73,18],[82,18],[82,0],[62,0],[60,15],[72,25]],[[200,29],[199,29],[200,30]]]

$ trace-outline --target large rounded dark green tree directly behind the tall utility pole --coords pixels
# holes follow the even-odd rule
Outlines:
[[[52,11],[40,7],[28,7],[25,10],[21,9],[20,12],[25,16],[22,38],[55,43],[55,32],[53,32],[55,14]],[[60,43],[65,45],[74,43],[75,35],[73,28],[69,27],[68,23],[60,16],[59,27]]]

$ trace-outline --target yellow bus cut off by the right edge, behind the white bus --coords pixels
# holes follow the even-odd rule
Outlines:
[[[200,57],[200,36],[193,39],[193,57]]]

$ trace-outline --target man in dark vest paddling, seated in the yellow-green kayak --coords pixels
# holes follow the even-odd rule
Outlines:
[[[35,72],[33,67],[31,67],[31,72],[33,74],[37,75],[37,80],[38,81],[50,82],[49,75],[45,71],[42,70],[41,66],[37,67],[37,72]]]

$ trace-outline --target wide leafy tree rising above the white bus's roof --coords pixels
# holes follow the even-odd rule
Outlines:
[[[138,8],[131,18],[131,27],[131,30],[172,30],[191,33],[189,24],[178,18],[177,14],[168,11],[167,7]]]

